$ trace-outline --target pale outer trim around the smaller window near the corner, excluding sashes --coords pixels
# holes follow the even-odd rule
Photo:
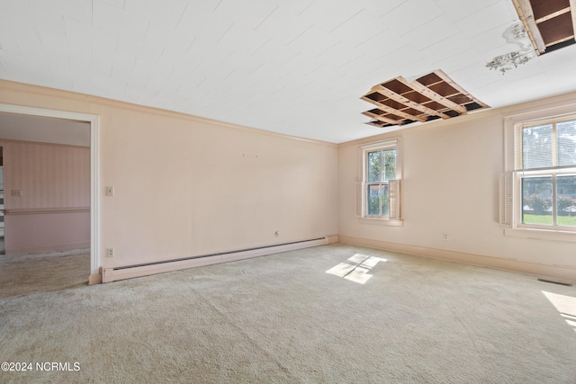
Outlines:
[[[395,218],[390,217],[373,217],[373,216],[366,216],[366,209],[365,209],[365,175],[366,175],[366,156],[368,152],[374,151],[374,149],[386,149],[386,148],[396,148],[396,180],[398,180],[398,204],[396,210],[398,210],[398,216]],[[384,141],[374,142],[370,144],[365,144],[359,146],[361,150],[362,156],[362,169],[360,175],[360,182],[357,183],[356,186],[356,217],[361,223],[365,224],[373,224],[373,225],[383,225],[383,226],[391,226],[391,227],[402,227],[403,226],[403,219],[401,216],[401,180],[402,180],[402,172],[401,172],[401,157],[402,157],[402,148],[401,148],[401,138],[391,138]]]

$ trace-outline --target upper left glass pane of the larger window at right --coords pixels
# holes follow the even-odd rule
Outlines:
[[[522,159],[524,169],[553,165],[552,124],[522,129]]]

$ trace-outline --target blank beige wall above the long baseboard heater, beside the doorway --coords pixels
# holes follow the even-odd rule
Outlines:
[[[100,117],[103,267],[338,232],[336,145],[4,81],[0,103]]]

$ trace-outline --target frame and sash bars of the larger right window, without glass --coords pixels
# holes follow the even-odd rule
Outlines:
[[[531,112],[520,112],[508,115],[504,120],[504,159],[505,174],[500,183],[500,218],[509,217],[509,220],[500,219],[504,228],[504,234],[511,237],[539,238],[559,241],[576,242],[576,227],[557,225],[557,190],[556,180],[559,176],[576,174],[576,165],[556,165],[554,158],[553,166],[524,169],[522,158],[522,129],[533,127],[538,123],[554,122],[553,133],[553,156],[556,156],[556,129],[558,121],[571,121],[576,119],[576,103],[558,103],[549,107]],[[552,225],[526,224],[523,219],[523,196],[522,180],[533,177],[552,178]],[[509,180],[509,191],[506,192],[504,185]],[[509,199],[509,204],[508,200]],[[507,208],[505,208],[507,207]],[[503,210],[510,210],[508,213]]]

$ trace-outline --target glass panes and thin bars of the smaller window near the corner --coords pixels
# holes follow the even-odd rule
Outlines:
[[[396,160],[395,145],[365,150],[366,217],[390,217],[390,182],[397,179]]]

